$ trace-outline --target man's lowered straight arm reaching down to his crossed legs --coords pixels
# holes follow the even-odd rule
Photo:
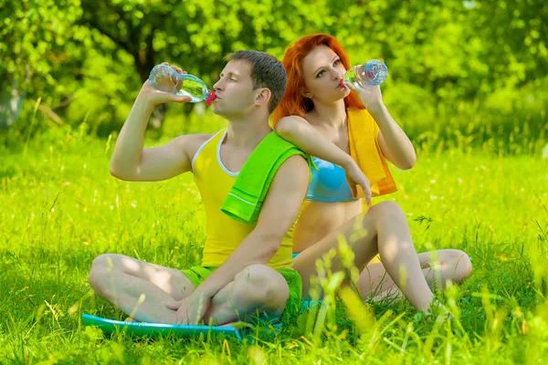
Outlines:
[[[255,229],[237,246],[227,261],[195,289],[210,298],[226,287],[246,266],[266,265],[297,218],[309,183],[309,166],[301,156],[291,156],[276,172]]]

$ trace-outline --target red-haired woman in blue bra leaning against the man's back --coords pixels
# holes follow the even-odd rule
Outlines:
[[[377,205],[383,206],[376,209],[377,205],[374,205],[370,212],[362,214],[363,202],[356,199],[352,192],[353,185],[362,187],[366,203],[364,210],[367,211],[372,190],[376,195],[395,191],[385,160],[402,170],[412,168],[416,162],[413,145],[386,110],[380,88],[355,89],[350,83],[342,84],[342,76],[350,68],[350,63],[346,52],[333,36],[316,34],[300,38],[286,50],[282,63],[288,73],[288,88],[278,109],[274,111],[275,130],[281,137],[314,156],[314,162],[319,167],[319,171],[313,172],[307,202],[294,234],[294,252],[302,252],[295,259],[295,268],[303,278],[313,275],[312,256],[320,255],[322,250],[327,249],[330,235],[343,231],[344,226],[350,229],[352,221],[361,215],[366,220],[369,215],[376,214],[374,229],[382,225],[382,233],[373,233],[376,235],[373,241],[376,241],[381,257],[381,245],[401,243],[403,240],[412,246],[405,215],[395,203],[379,203]],[[353,119],[361,119],[355,125],[362,126],[369,122],[370,132],[354,136],[349,133],[352,127],[352,123],[349,124],[351,115]],[[356,139],[361,140],[352,141]],[[384,166],[381,171],[385,173],[384,177],[375,179],[371,187],[367,179],[370,176],[366,177],[361,169],[363,166],[358,166],[351,157],[352,147],[362,142],[376,147],[374,154],[378,156],[375,158]],[[386,210],[387,203],[389,212],[379,215],[379,211]],[[383,216],[386,222],[379,221]],[[359,248],[354,246],[353,249],[356,264],[359,265],[364,262],[364,257],[359,257]],[[386,252],[392,251],[389,249]],[[411,251],[415,252],[414,247]],[[399,252],[397,255],[404,254]],[[376,260],[360,274],[357,287],[364,299],[374,297],[376,300],[387,295],[399,295],[401,292],[395,284],[399,284],[398,287],[405,286],[401,278],[395,277],[399,276],[397,268],[388,267],[394,264],[392,258],[386,260],[382,257],[382,260],[384,264]],[[435,262],[439,266],[433,270]],[[425,308],[424,302],[418,297],[431,296],[431,292],[427,293],[425,288],[425,279],[430,287],[443,286],[447,280],[459,282],[471,272],[469,256],[458,250],[418,254],[415,259],[409,258],[406,265],[406,275],[422,274],[420,278],[410,277],[410,281],[406,282],[408,287],[402,287],[406,297],[417,309]],[[420,267],[417,269],[416,266]],[[386,275],[387,269],[392,277]],[[416,287],[412,282],[416,283]]]

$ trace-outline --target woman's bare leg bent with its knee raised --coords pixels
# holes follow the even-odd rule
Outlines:
[[[363,231],[364,236],[353,239],[356,228]],[[386,271],[411,304],[418,310],[430,308],[434,295],[419,264],[406,216],[394,202],[375,204],[367,213],[342,224],[336,232],[311,245],[295,258],[294,267],[302,277],[303,297],[309,297],[310,277],[316,276],[316,260],[338,246],[340,235],[353,248],[355,266],[364,267],[379,253]],[[332,271],[341,268],[342,263],[337,255],[332,260]]]

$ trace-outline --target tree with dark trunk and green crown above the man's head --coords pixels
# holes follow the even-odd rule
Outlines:
[[[322,14],[318,4],[301,0],[220,0],[215,5],[199,0],[83,0],[81,6],[79,24],[98,30],[131,55],[142,82],[154,65],[168,61],[211,84],[228,53],[248,48],[281,56],[302,31],[312,31],[329,18],[327,9]],[[155,110],[156,126],[165,109]]]

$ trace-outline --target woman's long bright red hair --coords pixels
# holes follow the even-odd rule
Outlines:
[[[332,48],[332,51],[341,58],[342,66],[346,69],[350,68],[348,54],[334,36],[318,33],[310,36],[303,36],[298,41],[291,44],[290,47],[286,49],[285,55],[281,61],[288,74],[288,85],[283,98],[279,102],[278,108],[274,110],[274,123],[281,118],[290,115],[298,115],[301,118],[304,118],[306,113],[314,109],[312,100],[303,97],[301,94],[301,90],[306,88],[302,75],[302,60],[311,53],[312,49],[320,45]],[[344,98],[344,106],[346,109],[365,109],[362,100],[353,92]]]

